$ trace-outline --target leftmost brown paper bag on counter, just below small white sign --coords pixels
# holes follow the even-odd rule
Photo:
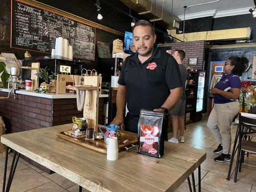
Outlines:
[[[57,75],[57,84],[56,84],[56,93],[67,93],[73,94],[73,85],[74,77],[73,75],[67,74],[58,74]]]

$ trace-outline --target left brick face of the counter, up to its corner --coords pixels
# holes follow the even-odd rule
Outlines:
[[[0,96],[8,93],[0,92]],[[52,126],[52,99],[16,96],[16,99],[0,100],[0,116],[9,133]]]

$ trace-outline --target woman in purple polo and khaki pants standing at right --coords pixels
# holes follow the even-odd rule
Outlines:
[[[240,108],[238,98],[241,80],[239,76],[244,72],[245,64],[248,62],[245,57],[230,57],[223,68],[225,74],[211,90],[214,95],[214,107],[208,118],[207,127],[219,143],[213,153],[222,152],[214,159],[217,162],[230,161],[231,124]]]

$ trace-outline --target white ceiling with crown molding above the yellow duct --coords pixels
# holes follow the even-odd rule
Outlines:
[[[149,0],[151,1],[151,0]],[[164,0],[164,11],[171,14],[171,1]],[[172,13],[183,20],[184,8],[183,6],[190,6],[200,3],[212,2],[216,0],[173,0]],[[153,0],[153,3],[161,9],[163,0]],[[215,3],[206,5],[193,6],[186,10],[186,19],[210,16],[214,14],[219,16],[229,16],[250,13],[248,10],[254,6],[254,0],[220,0]],[[218,13],[219,12],[219,13]],[[198,14],[199,13],[199,14]],[[228,13],[228,14],[227,14]],[[209,15],[207,15],[209,14]],[[188,16],[188,17],[187,17]]]

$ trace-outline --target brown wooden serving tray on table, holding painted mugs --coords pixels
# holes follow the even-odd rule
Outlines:
[[[138,144],[138,139],[134,133],[125,132],[125,131],[120,131],[120,132],[121,132],[121,140],[120,140],[121,144],[118,144],[119,151],[124,150],[124,147],[129,147],[132,144]],[[94,139],[93,141],[86,141],[85,138],[75,139],[73,137],[65,135],[63,132],[57,132],[57,136],[67,141],[73,142],[74,144],[82,145],[84,147],[98,151],[100,153],[107,153],[108,145],[104,143],[104,139]],[[129,141],[123,144],[123,141],[127,139]]]

